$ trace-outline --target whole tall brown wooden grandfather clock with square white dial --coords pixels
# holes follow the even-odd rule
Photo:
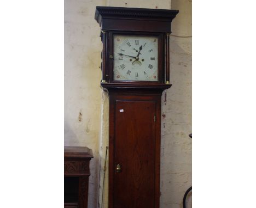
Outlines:
[[[109,208],[158,208],[161,95],[178,10],[96,7],[109,93]]]

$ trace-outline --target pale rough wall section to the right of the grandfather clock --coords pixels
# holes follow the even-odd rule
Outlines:
[[[191,1],[172,0],[179,14],[172,22],[172,34],[190,36]],[[182,207],[182,198],[191,186],[191,38],[170,36],[170,82],[162,123],[161,207]],[[163,99],[165,100],[165,99]],[[189,206],[188,206],[189,207]]]

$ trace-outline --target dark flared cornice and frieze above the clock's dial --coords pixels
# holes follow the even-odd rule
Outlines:
[[[102,30],[133,30],[171,33],[171,22],[178,10],[126,7],[96,7],[95,20]],[[122,20],[120,24],[120,20]],[[130,20],[133,20],[132,23]],[[136,24],[136,22],[143,27]],[[152,27],[158,22],[159,27]],[[153,24],[155,25],[155,24]]]

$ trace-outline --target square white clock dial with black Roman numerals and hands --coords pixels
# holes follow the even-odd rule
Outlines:
[[[114,35],[114,80],[158,81],[158,37]]]

